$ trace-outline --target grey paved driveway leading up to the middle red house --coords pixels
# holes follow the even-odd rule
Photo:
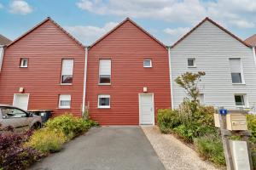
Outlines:
[[[141,127],[95,127],[34,170],[164,170]]]

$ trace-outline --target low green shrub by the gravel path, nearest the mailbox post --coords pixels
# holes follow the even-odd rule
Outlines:
[[[218,165],[225,164],[224,149],[220,137],[209,134],[195,139],[194,143],[196,150],[202,157]]]

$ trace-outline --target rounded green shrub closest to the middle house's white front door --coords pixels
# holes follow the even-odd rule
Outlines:
[[[172,132],[172,128],[177,127],[180,124],[177,116],[177,110],[171,110],[171,109],[158,110],[157,124],[160,127],[161,133]]]

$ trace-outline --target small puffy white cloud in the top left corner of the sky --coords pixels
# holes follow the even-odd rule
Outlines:
[[[32,7],[23,0],[15,0],[9,4],[9,12],[12,14],[32,13]]]

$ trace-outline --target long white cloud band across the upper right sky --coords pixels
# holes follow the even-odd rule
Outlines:
[[[256,1],[251,0],[79,0],[91,13],[195,25],[209,16],[226,26],[256,27]]]

